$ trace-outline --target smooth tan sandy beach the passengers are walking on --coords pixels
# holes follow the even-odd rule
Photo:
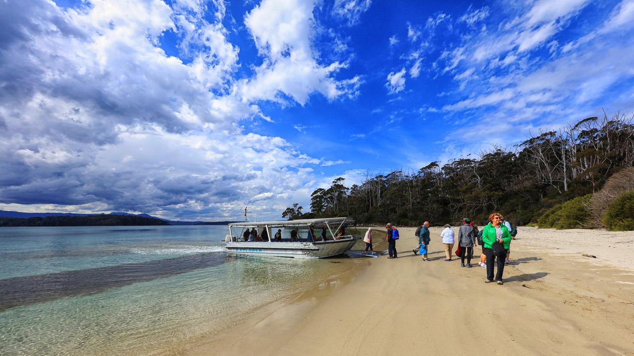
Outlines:
[[[414,229],[399,231],[399,258],[367,258],[188,354],[634,355],[633,232],[521,227],[499,286],[477,260],[445,262],[441,228],[430,262],[411,252]]]

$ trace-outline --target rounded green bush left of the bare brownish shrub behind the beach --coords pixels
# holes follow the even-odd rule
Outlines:
[[[589,229],[592,227],[588,218],[588,201],[592,198],[592,194],[579,196],[566,203],[555,205],[548,209],[538,220],[538,224],[542,228],[561,229]]]

